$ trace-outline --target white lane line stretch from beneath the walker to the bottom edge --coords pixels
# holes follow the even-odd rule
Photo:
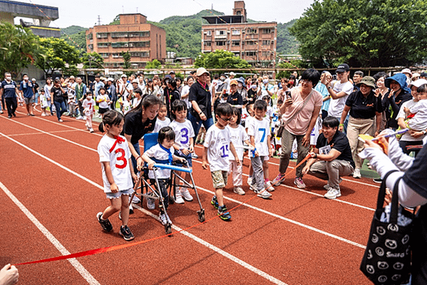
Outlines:
[[[152,212],[147,211],[146,209],[140,207],[137,204],[133,204],[133,207],[136,209],[139,209],[141,212],[143,212],[144,214],[147,214],[150,217],[153,217],[154,219],[157,219],[159,221],[159,218],[157,215],[153,214]],[[159,221],[160,222],[160,221]],[[175,229],[175,231],[182,231],[182,229],[178,226],[175,226],[175,224],[172,225],[172,228]],[[282,284],[282,285],[287,285],[286,283],[280,281],[279,279],[274,278],[273,276],[265,273],[262,270],[257,269],[256,267],[247,264],[245,261],[243,261],[242,259],[239,259],[237,257],[235,257],[232,254],[229,254],[228,252],[225,252],[224,250],[220,249],[219,247],[215,247],[215,245],[210,244],[209,242],[206,242],[204,239],[200,239],[200,237],[196,237],[194,234],[190,234],[187,231],[182,231],[180,232],[180,234],[184,234],[187,237],[190,237],[190,239],[195,240],[195,242],[198,242],[202,245],[204,245],[205,247],[207,247],[208,249],[211,249],[212,251],[221,254],[223,257],[227,257],[227,259],[230,259],[231,261],[234,261],[235,263],[239,264],[240,266],[245,267],[246,269],[258,274],[259,276],[264,277],[265,279],[267,279],[268,281],[271,281],[274,284]]]

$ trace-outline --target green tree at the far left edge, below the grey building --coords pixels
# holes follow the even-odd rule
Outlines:
[[[29,28],[0,22],[0,74],[10,72],[14,78],[34,62],[38,50],[37,36]]]

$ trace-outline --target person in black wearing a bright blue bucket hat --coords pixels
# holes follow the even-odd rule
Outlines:
[[[389,92],[384,95],[382,101],[383,110],[386,110],[386,128],[396,130],[398,123],[396,117],[401,108],[402,103],[411,100],[411,89],[408,88],[406,83],[406,75],[403,73],[396,73],[395,75],[386,78],[384,85],[390,88]]]

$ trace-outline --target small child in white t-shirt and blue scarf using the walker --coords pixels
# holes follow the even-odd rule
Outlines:
[[[172,224],[168,215],[165,214],[165,210],[168,209],[169,205],[169,195],[168,195],[168,185],[170,180],[170,169],[165,168],[157,168],[157,170],[153,170],[153,166],[155,163],[163,163],[170,164],[174,160],[179,160],[180,162],[184,162],[185,159],[182,157],[178,157],[173,154],[174,148],[173,144],[175,143],[175,132],[170,127],[164,127],[159,130],[158,133],[158,144],[150,147],[149,150],[145,150],[143,154],[143,160],[147,162],[148,169],[148,177],[150,178],[150,182],[155,185],[155,175],[158,179],[160,192],[163,197],[163,205],[165,209],[163,209],[162,204],[160,204],[160,213],[159,219],[163,225]],[[150,207],[149,207],[150,208]]]

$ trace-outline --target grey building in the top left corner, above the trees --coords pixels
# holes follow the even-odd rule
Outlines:
[[[21,26],[30,28],[36,36],[42,38],[59,38],[60,28],[49,27],[51,21],[59,18],[58,8],[40,4],[1,0],[0,20],[14,24],[15,17],[33,19],[33,23],[24,22],[20,19]]]

